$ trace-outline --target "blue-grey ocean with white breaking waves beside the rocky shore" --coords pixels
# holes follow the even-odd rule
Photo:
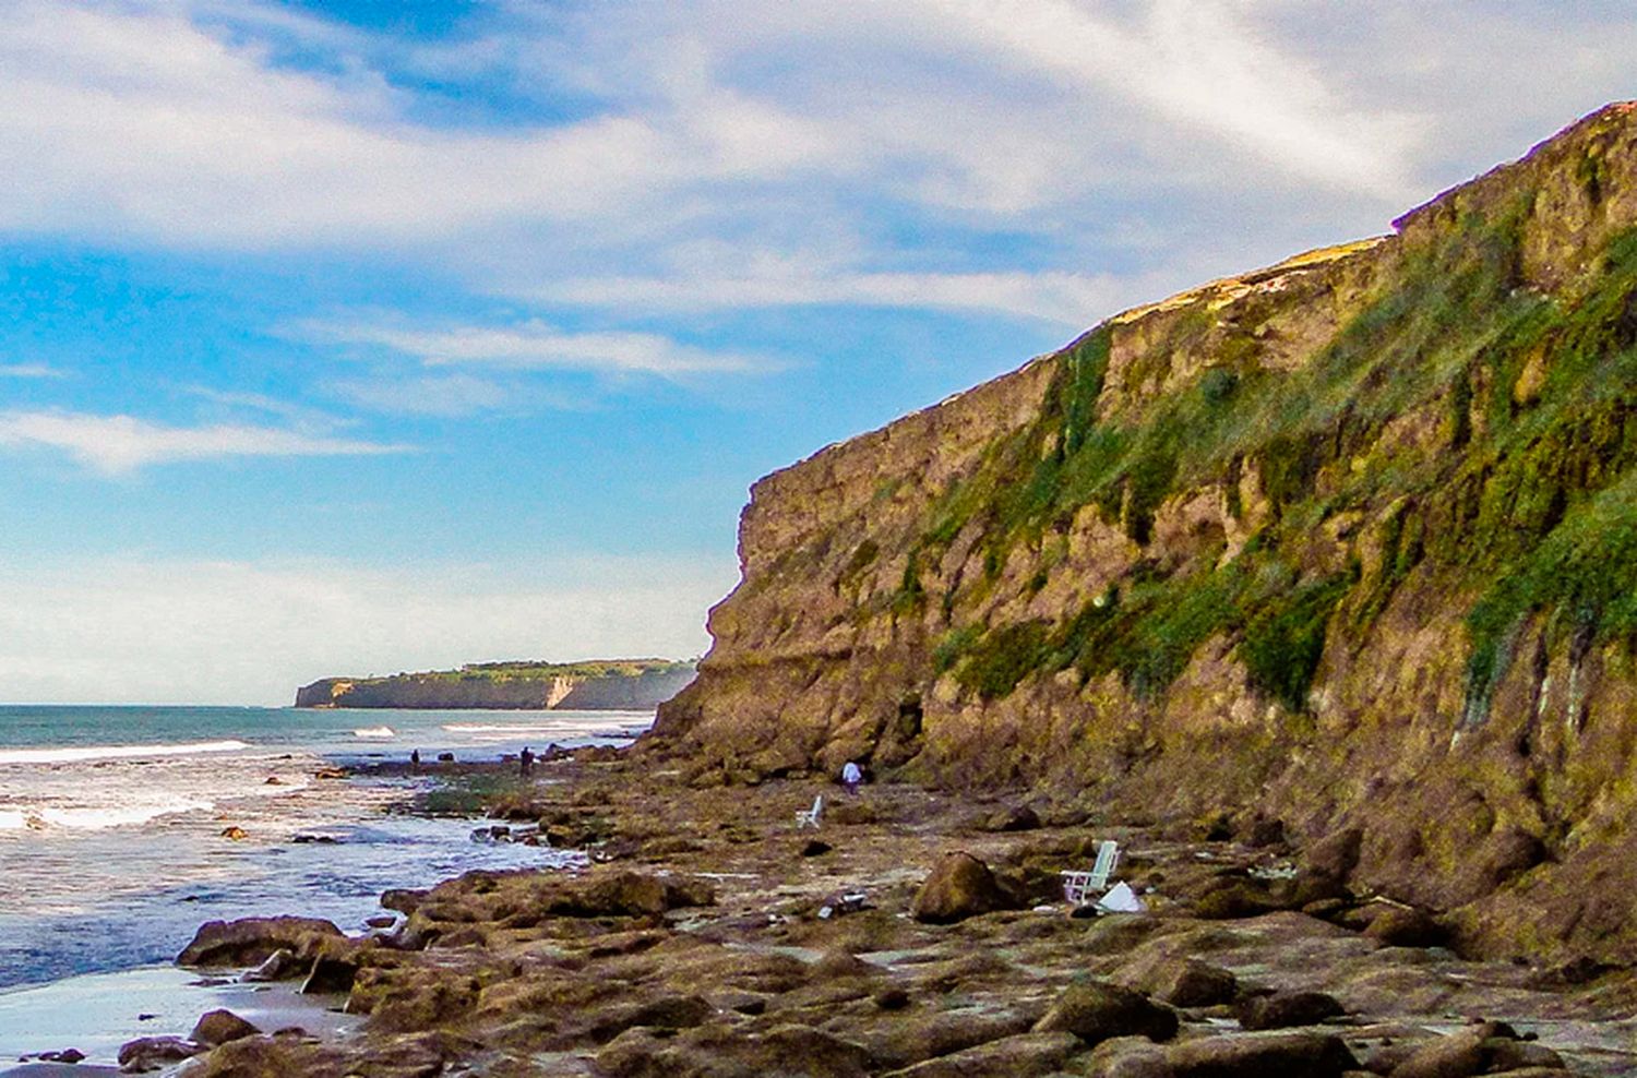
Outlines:
[[[165,965],[203,921],[300,913],[354,932],[390,887],[583,857],[475,842],[470,820],[404,813],[429,775],[336,780],[321,769],[419,749],[435,772],[439,752],[475,762],[525,744],[619,744],[652,720],[0,707],[0,1053],[20,986]]]

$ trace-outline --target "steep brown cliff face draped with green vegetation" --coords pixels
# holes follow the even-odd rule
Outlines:
[[[650,743],[1357,829],[1473,949],[1637,959],[1634,226],[1617,105],[761,479]]]

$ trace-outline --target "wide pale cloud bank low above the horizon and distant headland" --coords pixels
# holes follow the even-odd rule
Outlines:
[[[704,651],[730,558],[0,568],[0,700],[290,703],[324,676]]]

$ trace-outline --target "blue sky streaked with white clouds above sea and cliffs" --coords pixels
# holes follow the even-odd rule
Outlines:
[[[0,700],[701,654],[748,486],[1637,97],[1637,0],[10,0]]]

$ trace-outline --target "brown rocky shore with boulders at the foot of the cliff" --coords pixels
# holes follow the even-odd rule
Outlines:
[[[465,777],[476,772],[465,769]],[[815,777],[735,784],[583,751],[501,782],[496,828],[584,872],[388,892],[391,928],[214,923],[180,959],[367,1016],[350,1037],[203,1016],[128,1068],[226,1075],[1107,1078],[1637,1068],[1637,980],[1465,960],[1437,918],[1349,890],[1344,839],[1262,820],[1113,820]],[[817,828],[797,813],[825,798]],[[537,829],[537,831],[535,831]],[[1058,874],[1120,842],[1146,911],[1094,916]],[[535,839],[539,841],[539,839]],[[291,911],[300,914],[300,911]],[[327,995],[326,995],[327,993]],[[41,1045],[62,1049],[65,1045]]]

